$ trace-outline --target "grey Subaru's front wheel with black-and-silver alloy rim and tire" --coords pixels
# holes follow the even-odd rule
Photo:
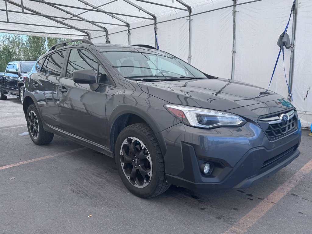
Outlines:
[[[121,131],[115,145],[115,161],[122,182],[138,197],[155,197],[170,187],[158,140],[145,123],[132,124]]]

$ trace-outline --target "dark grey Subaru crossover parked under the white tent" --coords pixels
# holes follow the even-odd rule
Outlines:
[[[35,144],[58,134],[114,157],[139,197],[170,184],[247,188],[299,156],[300,120],[282,96],[151,46],[81,41],[53,46],[27,76],[23,109]]]

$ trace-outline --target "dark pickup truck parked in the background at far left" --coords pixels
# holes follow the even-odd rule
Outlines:
[[[23,103],[24,81],[36,61],[13,61],[7,64],[3,76],[0,76],[0,100],[7,96],[19,98]]]

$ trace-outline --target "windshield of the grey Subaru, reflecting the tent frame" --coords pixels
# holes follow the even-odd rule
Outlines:
[[[188,63],[163,51],[116,47],[102,47],[99,51],[126,78],[154,77],[153,80],[181,77],[207,78]]]

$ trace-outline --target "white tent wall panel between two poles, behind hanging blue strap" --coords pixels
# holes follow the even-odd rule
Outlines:
[[[261,1],[236,7],[235,80],[267,88],[280,48],[276,44],[289,19],[292,1]],[[291,38],[291,25],[288,34]],[[290,50],[285,51],[285,71],[288,79]],[[288,80],[287,80],[288,82]],[[270,86],[287,98],[282,55]]]

